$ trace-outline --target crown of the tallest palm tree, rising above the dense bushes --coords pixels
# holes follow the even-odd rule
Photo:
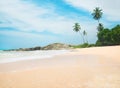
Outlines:
[[[103,14],[103,13],[102,13],[102,9],[100,9],[99,7],[96,7],[96,8],[93,10],[93,13],[92,13],[93,18],[98,21],[98,24],[99,24],[100,18],[102,17],[102,14]]]

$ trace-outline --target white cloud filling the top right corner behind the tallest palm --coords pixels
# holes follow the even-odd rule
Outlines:
[[[110,21],[120,21],[120,0],[65,0],[68,4],[92,12],[100,7]]]

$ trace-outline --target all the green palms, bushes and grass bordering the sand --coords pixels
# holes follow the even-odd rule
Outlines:
[[[99,7],[96,7],[92,13],[93,18],[98,21],[98,26],[97,26],[98,40],[96,41],[96,44],[89,44],[87,40],[87,32],[84,30],[82,34],[80,32],[81,27],[79,23],[75,23],[73,30],[75,32],[80,32],[81,37],[83,38],[83,44],[72,47],[85,48],[85,47],[95,47],[95,46],[120,45],[120,25],[117,25],[112,29],[104,28],[103,24],[100,23],[102,14],[103,14],[102,9],[100,9]]]

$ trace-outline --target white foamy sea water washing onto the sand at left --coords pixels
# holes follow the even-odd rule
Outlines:
[[[45,59],[68,52],[68,50],[37,50],[37,51],[0,51],[0,63],[21,60]]]

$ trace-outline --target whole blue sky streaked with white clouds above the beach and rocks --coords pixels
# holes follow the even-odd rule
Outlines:
[[[79,23],[89,43],[97,40],[97,21],[91,13],[100,7],[106,28],[120,24],[120,0],[1,0],[0,49],[45,46],[51,43],[81,44]]]

